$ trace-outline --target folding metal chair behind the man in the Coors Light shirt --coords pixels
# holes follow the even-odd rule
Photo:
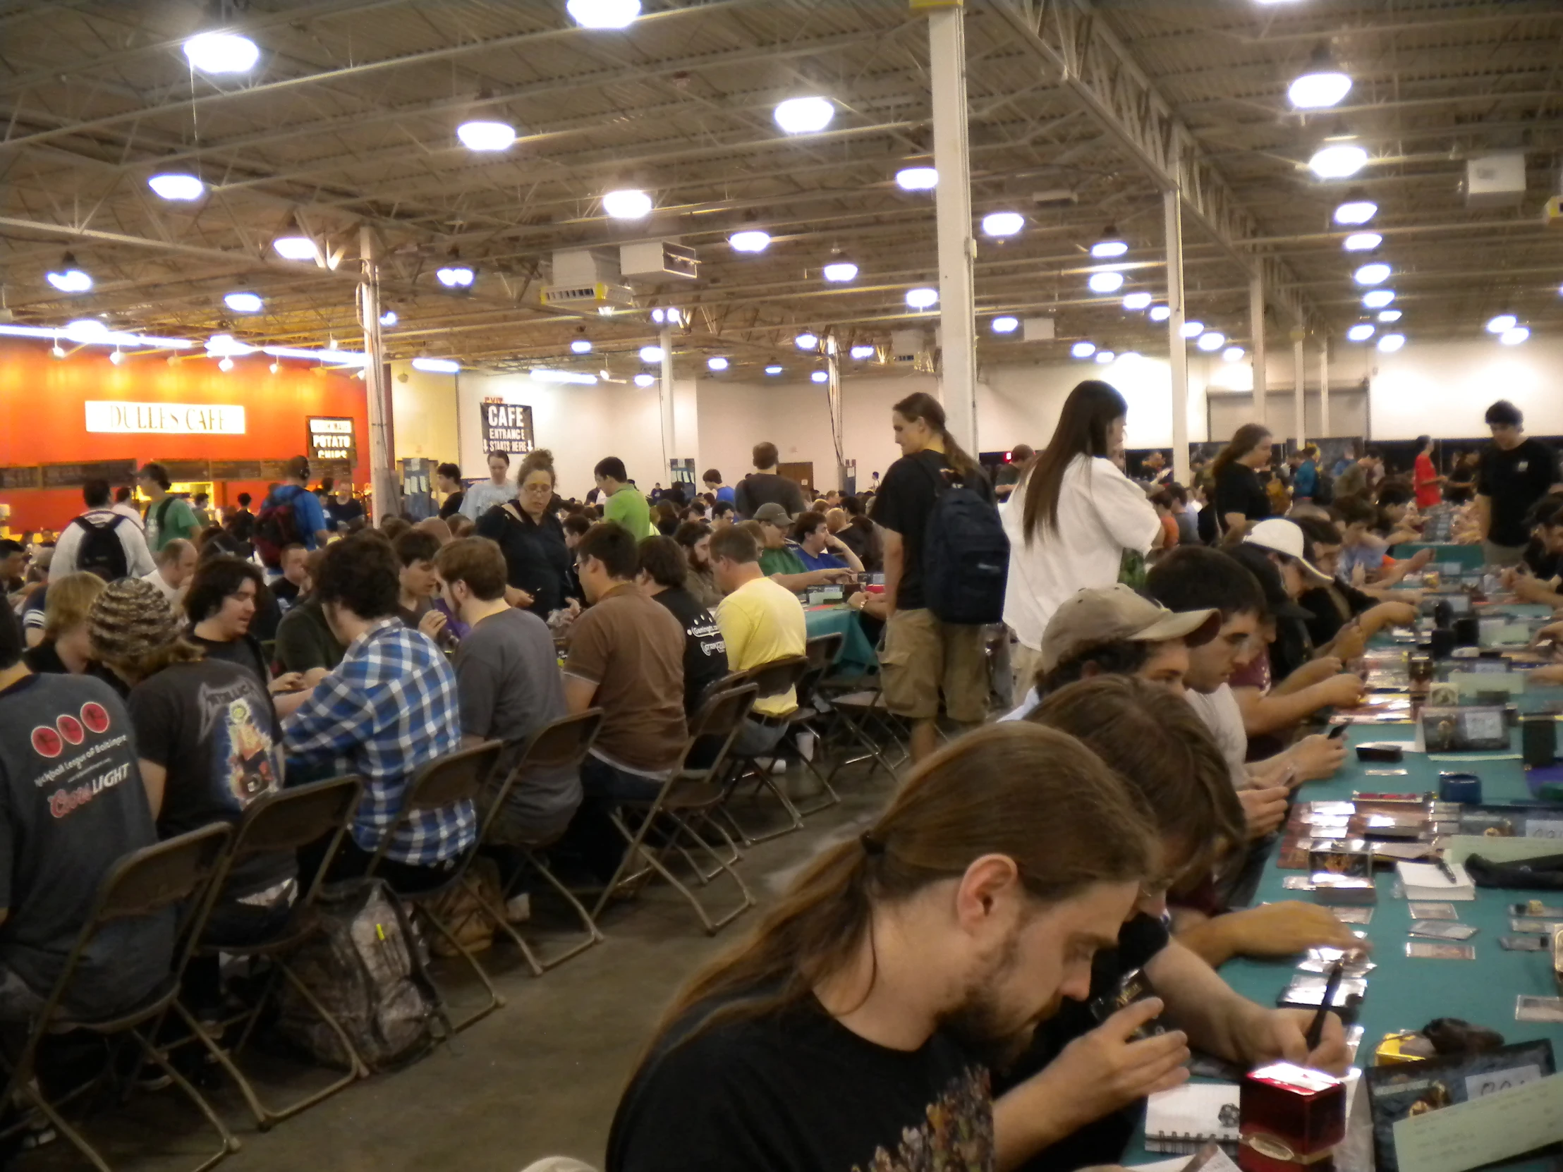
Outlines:
[[[125,1039],[134,1041],[141,1049],[142,1058],[161,1069],[195,1103],[200,1113],[206,1116],[206,1122],[217,1130],[217,1134],[222,1136],[222,1149],[202,1161],[197,1166],[197,1172],[216,1166],[230,1152],[239,1150],[239,1141],[228,1131],[211,1105],[191,1086],[184,1075],[173,1069],[164,1049],[156,1045],[155,1036],[148,1038],[142,1031],[142,1027],[152,1025],[152,1031],[155,1033],[156,1025],[167,1014],[169,1006],[173,1005],[178,995],[180,977],[184,972],[184,964],[189,961],[191,949],[205,919],[208,884],[217,872],[227,844],[228,827],[213,824],[200,830],[192,830],[188,834],[170,838],[166,842],[144,847],[114,864],[98,886],[92,913],[88,916],[75,945],[70,949],[70,955],[66,958],[59,980],[55,981],[48,1000],[44,1002],[44,1008],[33,1022],[27,1042],[9,1067],[9,1078],[0,1103],[25,1102],[38,1108],[53,1128],[66,1136],[98,1172],[111,1172],[108,1163],[105,1163],[103,1156],[98,1155],[77,1128],[66,1122],[59,1108],[94,1089],[103,1075],[77,1088],[59,1103],[52,1103],[34,1077],[38,1047],[48,1034],[80,1030],[109,1039],[109,1058],[105,1066],[106,1075],[113,1075],[119,1069],[117,1059]],[[97,939],[98,933],[113,924],[145,919],[175,908],[178,911],[172,914],[177,914],[178,920],[173,938],[173,959],[169,975],[158,988],[138,1006],[114,1017],[91,1022],[70,1017],[64,1008],[64,997],[77,975],[77,964],[92,941]]]

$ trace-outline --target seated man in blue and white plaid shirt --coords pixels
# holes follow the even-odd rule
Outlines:
[[[289,774],[356,774],[364,781],[331,864],[336,878],[364,874],[397,822],[414,774],[461,747],[455,672],[427,636],[402,625],[399,589],[395,553],[380,538],[327,547],[314,592],[347,652],[283,720]],[[378,874],[400,891],[438,886],[475,838],[470,802],[420,809],[402,824]],[[308,874],[308,856],[300,861]]]

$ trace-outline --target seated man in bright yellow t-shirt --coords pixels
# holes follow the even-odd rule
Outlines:
[[[764,513],[769,505],[761,505]],[[711,567],[721,588],[722,605],[716,622],[727,642],[727,663],[738,672],[763,667],[777,659],[803,655],[808,628],[803,603],[775,578],[760,569],[753,538],[741,528],[725,528],[711,538]],[[788,716],[797,711],[797,689],[761,695],[733,739],[736,756],[769,753],[786,733]]]

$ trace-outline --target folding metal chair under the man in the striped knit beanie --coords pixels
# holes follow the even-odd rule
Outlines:
[[[317,842],[327,834],[331,836],[331,845],[320,859],[320,866],[314,875],[299,877],[299,899],[294,902],[292,914],[288,924],[270,939],[252,941],[249,944],[222,944],[220,947],[195,944],[197,956],[228,953],[231,956],[270,961],[272,977],[253,1006],[222,1020],[214,1038],[213,1031],[186,1008],[183,1000],[173,1002],[173,1009],[183,1019],[186,1028],[206,1047],[206,1052],[228,1072],[233,1081],[238,1083],[241,1094],[244,1094],[244,1102],[250,1106],[250,1114],[255,1116],[255,1125],[261,1131],[269,1131],[274,1124],[280,1124],[283,1119],[330,1099],[355,1080],[369,1077],[369,1066],[353,1049],[352,1039],[341,1022],[336,1020],[336,1016],[330,1009],[320,1005],[309,988],[299,980],[288,964],[289,953],[319,931],[320,925],[314,917],[316,895],[320,892],[325,872],[336,856],[336,847],[347,831],[347,824],[358,806],[361,792],[363,786],[356,777],[338,777],[330,781],[316,781],[314,784],[297,786],[294,789],[280,789],[250,803],[233,836],[233,849],[224,858],[224,866],[217,878],[213,880],[213,903],[220,899],[228,875],[245,859],[278,852],[291,853],[311,842]],[[349,1070],[330,1086],[308,1094],[289,1106],[270,1108],[261,1102],[255,1086],[239,1069],[238,1058],[255,1033],[258,1022],[264,1017],[264,1011],[277,992],[278,981],[288,981],[303,1002],[319,1014],[320,1020],[331,1028],[342,1052],[347,1055]],[[241,1025],[242,1033],[238,1041],[231,1050],[225,1050],[222,1047],[222,1036],[233,1027]]]

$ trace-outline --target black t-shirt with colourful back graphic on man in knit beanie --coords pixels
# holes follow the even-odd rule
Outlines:
[[[173,838],[233,822],[283,786],[283,736],[272,697],[252,672],[220,659],[164,667],[130,689],[136,752],[167,770],[158,833]],[[227,894],[252,895],[294,875],[294,856],[253,855]]]

